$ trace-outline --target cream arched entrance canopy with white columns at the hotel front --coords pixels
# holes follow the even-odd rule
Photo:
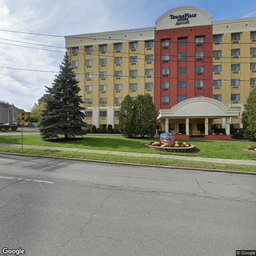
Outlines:
[[[186,118],[186,134],[189,134],[189,119],[204,118],[205,134],[208,134],[208,118],[226,118],[226,133],[229,134],[230,118],[239,116],[240,107],[229,108],[222,102],[212,98],[189,98],[179,102],[170,109],[160,109],[158,120],[166,120],[166,132],[170,118]]]

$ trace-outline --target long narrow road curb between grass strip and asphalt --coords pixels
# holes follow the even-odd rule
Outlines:
[[[104,161],[104,160],[68,158],[68,157],[57,157],[57,156],[40,156],[40,155],[29,155],[29,154],[14,154],[14,153],[6,153],[6,152],[0,152],[0,154],[15,155],[15,156],[41,157],[41,158],[53,158],[53,159],[72,160],[72,161],[80,161],[80,162],[94,162],[94,163],[100,163],[100,164],[119,164],[119,165],[128,165],[128,166],[142,166],[142,167],[165,168],[165,169],[198,170],[198,171],[205,171],[205,172],[224,172],[224,173],[233,173],[233,174],[256,175],[256,172],[242,172],[242,171],[232,171],[232,170],[188,168],[188,167],[165,166],[165,165],[150,165],[150,164],[133,164],[133,163],[126,163],[126,162],[112,162],[112,161]]]

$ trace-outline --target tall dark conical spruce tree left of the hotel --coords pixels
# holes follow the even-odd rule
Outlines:
[[[53,80],[52,88],[46,86],[45,110],[40,122],[40,133],[44,140],[58,138],[64,135],[65,139],[83,135],[84,103],[82,96],[78,96],[81,90],[78,81],[74,79],[74,71],[69,62],[68,53],[60,65],[60,72]]]

